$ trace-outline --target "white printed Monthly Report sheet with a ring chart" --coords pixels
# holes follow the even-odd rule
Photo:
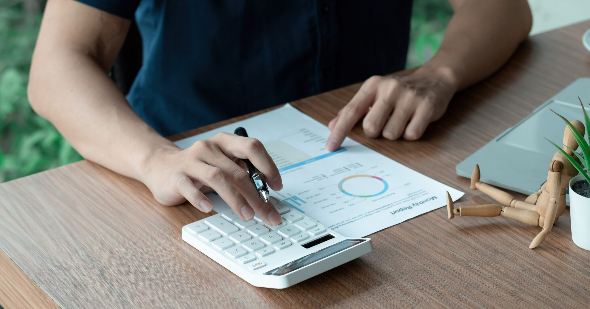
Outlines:
[[[446,206],[445,191],[454,200],[464,194],[350,138],[339,150],[327,151],[329,129],[289,104],[176,145],[188,148],[238,126],[263,142],[281,173],[283,190],[270,195],[344,236],[364,237]],[[230,209],[216,194],[207,197],[218,213]]]

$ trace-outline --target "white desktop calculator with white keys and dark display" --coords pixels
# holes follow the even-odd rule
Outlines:
[[[182,227],[182,239],[256,287],[286,288],[373,251],[371,239],[348,238],[283,203],[283,222],[268,226],[232,210]]]

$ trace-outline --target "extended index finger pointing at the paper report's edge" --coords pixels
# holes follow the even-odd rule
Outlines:
[[[350,102],[342,109],[338,116],[336,124],[326,142],[328,151],[336,151],[342,145],[346,135],[352,130],[360,117],[365,115],[369,106],[375,99],[376,86],[380,77],[371,77],[360,86],[358,92],[352,97]]]

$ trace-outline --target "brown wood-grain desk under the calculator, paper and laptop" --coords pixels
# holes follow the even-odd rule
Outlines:
[[[455,175],[455,165],[578,77],[590,76],[590,53],[580,41],[588,28],[590,21],[530,38],[498,73],[458,94],[421,141],[368,139],[359,126],[350,137],[466,191],[458,204],[488,203]],[[293,105],[327,123],[358,87]],[[0,247],[14,261],[0,253],[6,309],[590,303],[590,252],[572,243],[569,210],[530,250],[538,227],[504,217],[449,221],[438,209],[371,235],[374,252],[285,290],[253,287],[183,242],[181,227],[206,214],[186,204],[161,206],[142,184],[88,161],[1,184],[0,213]]]

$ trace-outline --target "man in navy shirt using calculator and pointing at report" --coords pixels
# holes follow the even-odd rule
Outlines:
[[[419,138],[530,30],[526,0],[448,1],[438,53],[407,77],[367,79],[330,122],[327,149],[362,116],[368,136]],[[404,69],[410,14],[411,1],[49,0],[28,94],[81,155],[142,181],[159,203],[209,212],[212,188],[241,219],[278,225],[237,164],[248,158],[281,189],[259,141],[219,134],[183,150],[162,135]],[[125,97],[108,72],[133,18],[143,64]]]

